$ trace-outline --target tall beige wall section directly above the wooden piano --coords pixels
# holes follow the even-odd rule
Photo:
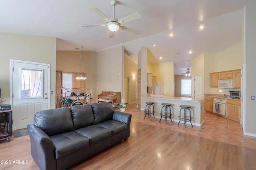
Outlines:
[[[122,45],[97,53],[97,95],[102,91],[122,91],[124,47]],[[122,96],[122,94],[121,94]]]

